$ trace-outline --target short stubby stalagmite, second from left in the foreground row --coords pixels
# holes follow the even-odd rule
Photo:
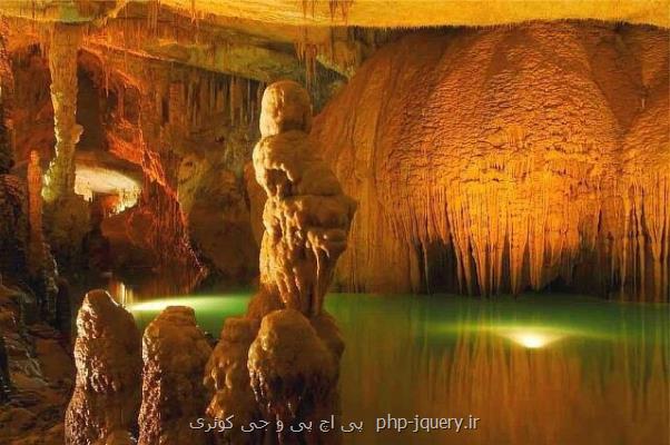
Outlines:
[[[190,424],[207,407],[203,375],[210,354],[189,307],[167,307],[147,326],[139,445],[207,443],[205,431]]]

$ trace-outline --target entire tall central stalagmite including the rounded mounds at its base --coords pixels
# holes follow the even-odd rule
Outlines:
[[[311,123],[309,96],[300,86],[280,81],[265,90],[262,139],[253,156],[255,178],[267,195],[260,288],[247,317],[224,325],[205,377],[215,390],[208,414],[233,414],[242,424],[265,419],[268,429],[258,434],[269,443],[339,437],[289,431],[296,422],[338,414],[344,343],[323,303],[356,209],[319,147],[309,144]],[[217,441],[257,443],[258,437],[235,429]]]

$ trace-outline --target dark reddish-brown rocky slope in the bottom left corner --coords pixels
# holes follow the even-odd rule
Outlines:
[[[29,296],[0,276],[0,443],[59,445],[72,360],[59,333],[30,312]]]

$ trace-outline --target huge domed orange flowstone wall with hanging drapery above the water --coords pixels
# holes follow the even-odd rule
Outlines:
[[[489,295],[559,279],[667,299],[667,91],[653,29],[532,23],[383,48],[312,132],[361,201],[339,283]]]

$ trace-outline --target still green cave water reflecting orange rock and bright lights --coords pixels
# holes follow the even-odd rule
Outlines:
[[[218,337],[249,294],[130,305],[146,326],[167,305],[194,307]],[[524,295],[331,295],[346,342],[345,444],[667,444],[669,307]],[[476,428],[375,431],[377,418],[464,417]]]

